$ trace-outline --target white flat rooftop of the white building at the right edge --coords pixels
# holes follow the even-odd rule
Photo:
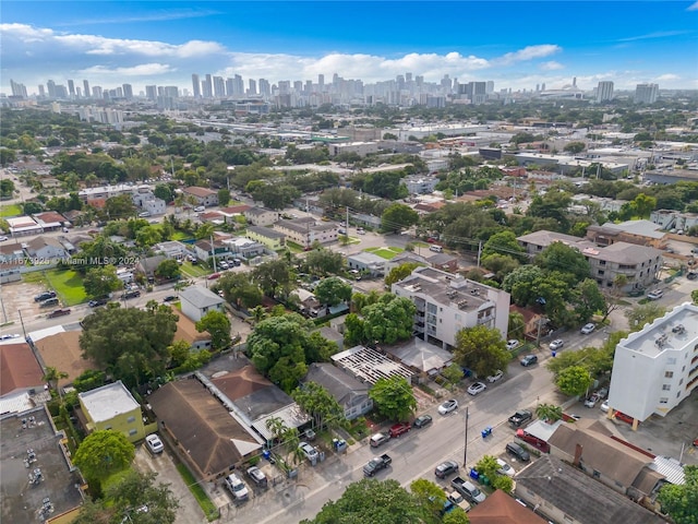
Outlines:
[[[655,358],[663,352],[678,350],[691,341],[694,345],[698,343],[698,307],[684,303],[618,345]]]

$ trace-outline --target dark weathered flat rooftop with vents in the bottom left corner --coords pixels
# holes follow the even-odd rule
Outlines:
[[[34,417],[33,424],[29,417]],[[26,429],[23,429],[23,419],[26,420]],[[50,515],[45,513],[45,519],[82,503],[76,488],[81,485],[80,476],[70,472],[59,446],[61,437],[53,433],[43,407],[2,418],[0,433],[0,505],[3,523],[44,522],[41,507],[45,498],[49,498],[53,504],[53,512]],[[29,449],[34,450],[36,462],[26,467],[24,460]],[[43,480],[31,484],[28,477],[35,468],[41,469]]]

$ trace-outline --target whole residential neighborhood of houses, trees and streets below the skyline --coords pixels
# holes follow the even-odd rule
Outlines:
[[[693,522],[698,99],[462,85],[1,99],[3,520]]]

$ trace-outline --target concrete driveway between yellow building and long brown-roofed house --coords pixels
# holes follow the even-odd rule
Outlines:
[[[158,474],[156,481],[170,485],[174,499],[179,501],[176,524],[208,522],[198,507],[198,502],[174,467],[174,461],[167,449],[159,455],[153,455],[145,445],[139,445],[135,450],[135,468],[143,473],[155,472]]]

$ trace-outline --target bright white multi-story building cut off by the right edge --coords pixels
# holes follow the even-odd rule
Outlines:
[[[698,306],[686,302],[615,348],[609,417],[665,416],[698,388]]]

